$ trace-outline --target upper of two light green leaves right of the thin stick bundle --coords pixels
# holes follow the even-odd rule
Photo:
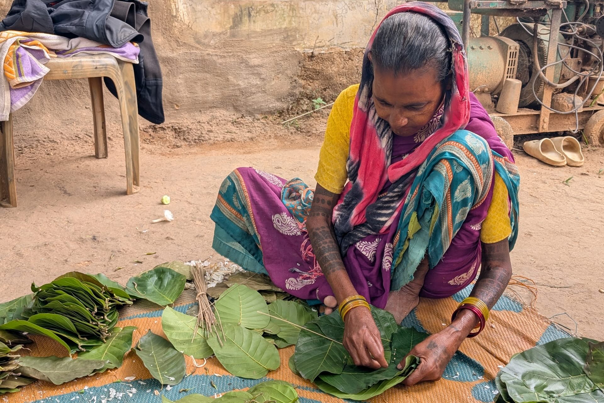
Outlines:
[[[223,292],[214,304],[214,309],[222,324],[240,324],[248,329],[264,329],[271,320],[262,295],[240,284]]]

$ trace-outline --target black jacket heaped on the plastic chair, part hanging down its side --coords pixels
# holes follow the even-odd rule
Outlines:
[[[164,122],[162,76],[150,24],[147,3],[140,0],[14,0],[0,31],[85,37],[115,48],[137,42],[141,50],[134,65],[138,114],[159,124]],[[105,79],[105,84],[116,95],[111,80]]]

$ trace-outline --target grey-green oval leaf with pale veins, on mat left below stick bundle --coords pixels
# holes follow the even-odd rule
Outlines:
[[[184,378],[184,355],[151,330],[141,337],[135,351],[153,378],[162,385],[178,385]]]

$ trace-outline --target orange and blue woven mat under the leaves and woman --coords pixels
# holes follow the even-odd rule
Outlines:
[[[405,318],[402,325],[417,330],[435,333],[448,326],[451,312],[457,304],[467,297],[471,286],[450,298],[442,300],[424,299],[419,306]],[[173,308],[185,313],[193,306],[194,292],[185,290]],[[141,301],[120,312],[117,326],[137,326],[133,341],[151,329],[155,334],[165,337],[161,329],[162,307]],[[470,338],[461,344],[451,363],[446,367],[440,381],[424,382],[413,387],[397,386],[380,396],[371,399],[374,403],[432,403],[432,402],[492,402],[496,393],[493,379],[500,368],[507,364],[510,357],[518,352],[530,349],[538,344],[568,337],[565,332],[554,327],[535,309],[522,306],[512,298],[503,296],[495,305],[486,329],[480,337]],[[29,344],[28,355],[65,356],[65,350],[54,341],[43,337],[34,337],[36,343]],[[279,350],[281,366],[269,372],[263,379],[243,379],[230,375],[215,358],[210,358],[204,367],[194,366],[187,357],[188,376],[176,386],[162,388],[153,379],[138,356],[130,351],[124,357],[123,366],[102,374],[76,379],[63,385],[34,382],[21,388],[20,392],[8,393],[0,397],[3,403],[118,403],[140,402],[160,403],[161,395],[178,400],[190,393],[205,396],[220,396],[230,390],[245,390],[259,382],[280,379],[297,387],[300,403],[326,402],[339,403],[342,399],[333,398],[318,390],[310,382],[294,375],[288,367],[288,360],[294,353],[294,347]],[[203,360],[198,360],[198,365]],[[124,380],[135,376],[132,381]]]

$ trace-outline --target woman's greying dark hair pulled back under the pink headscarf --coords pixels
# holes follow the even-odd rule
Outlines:
[[[394,74],[406,74],[426,66],[445,82],[451,69],[451,43],[443,27],[421,13],[391,15],[382,22],[371,46],[371,63]]]

